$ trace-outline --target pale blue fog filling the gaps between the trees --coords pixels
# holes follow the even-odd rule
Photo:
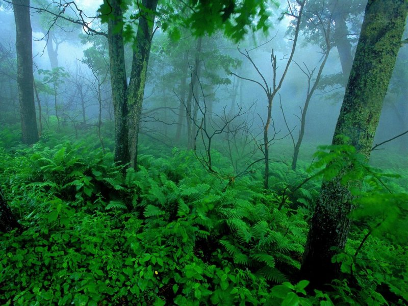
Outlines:
[[[101,24],[92,16],[97,15],[100,1],[81,1],[78,7],[84,10],[85,15],[91,18],[85,18],[89,26],[97,31],[106,32],[106,24]],[[33,7],[38,4],[33,3]],[[364,7],[364,3],[362,6]],[[55,6],[55,5],[54,5]],[[52,6],[50,10],[56,9]],[[260,84],[264,85],[262,77],[265,78],[268,86],[271,86],[273,80],[273,70],[271,66],[271,50],[276,56],[278,67],[276,69],[276,78],[279,80],[288,61],[293,43],[293,31],[288,31],[288,26],[293,22],[293,18],[286,15],[282,20],[278,17],[287,9],[287,3],[282,3],[279,8],[271,8],[273,14],[270,17],[270,28],[267,33],[256,32],[248,33],[238,44],[232,40],[216,33],[213,36],[202,38],[202,50],[200,55],[201,74],[199,78],[202,92],[207,100],[211,100],[211,116],[221,116],[223,112],[232,115],[242,107],[242,112],[246,112],[246,119],[251,123],[251,135],[259,135],[263,129],[263,122],[267,112],[267,96]],[[76,12],[68,11],[68,16],[75,16]],[[71,14],[71,15],[69,15]],[[72,24],[66,20],[57,20],[54,23],[55,16],[46,12],[38,12],[31,9],[31,23],[33,28],[33,61],[35,64],[34,74],[36,83],[39,84],[39,98],[43,109],[43,118],[47,129],[52,129],[53,115],[55,113],[61,117],[61,123],[66,125],[78,125],[82,123],[97,124],[98,122],[98,100],[96,90],[95,75],[92,74],[89,65],[97,67],[99,78],[105,78],[104,83],[100,84],[101,94],[101,121],[113,120],[113,105],[110,89],[110,78],[108,67],[108,46],[107,40],[103,36],[89,35],[84,27],[78,24]],[[355,46],[358,40],[358,31],[355,27],[361,26],[363,12],[353,16],[352,24],[349,23],[349,31],[352,32],[348,37],[351,43],[352,53],[355,52]],[[351,21],[350,21],[351,22]],[[2,125],[18,122],[18,97],[16,95],[15,78],[15,24],[13,11],[10,5],[2,4],[0,10],[0,25],[3,31],[0,33],[0,42],[3,52],[7,55],[10,63],[2,60],[1,80],[2,87],[0,96],[2,97],[2,112],[0,120]],[[196,55],[197,38],[191,36],[188,29],[183,30],[181,37],[171,40],[168,32],[160,28],[160,22],[152,39],[150,61],[147,71],[147,80],[144,91],[143,113],[146,118],[141,125],[145,135],[155,137],[164,137],[164,141],[172,143],[172,137],[177,130],[177,112],[183,107],[183,99],[180,93],[181,76],[180,69],[183,61],[188,62],[189,75],[187,84],[192,80],[192,69],[194,69],[194,58]],[[354,27],[354,28],[352,28]],[[53,34],[53,36],[50,35]],[[58,66],[62,68],[61,74],[56,80],[56,91],[52,92],[44,85],[47,83],[46,73],[52,68],[52,55],[49,54],[47,41],[54,39],[54,48],[58,43]],[[49,42],[48,42],[49,43]],[[92,54],[92,48],[98,50]],[[324,46],[323,46],[324,49]],[[274,142],[286,143],[292,142],[290,133],[295,140],[300,128],[301,110],[304,108],[305,98],[307,96],[308,78],[304,71],[313,70],[311,84],[316,80],[316,74],[324,57],[324,50],[316,40],[306,37],[301,29],[297,47],[290,64],[286,77],[283,80],[282,88],[273,100],[272,119],[273,130],[276,140]],[[86,54],[88,50],[88,57]],[[243,54],[250,56],[253,64]],[[6,52],[7,51],[7,52]],[[241,52],[241,53],[240,53]],[[89,56],[90,55],[90,56]],[[99,57],[99,58],[96,58]],[[130,75],[130,66],[132,60],[132,43],[126,44],[125,58],[126,69]],[[223,58],[224,57],[224,58]],[[392,138],[408,128],[408,111],[406,105],[406,60],[408,58],[408,48],[406,45],[400,48],[396,72],[391,80],[389,93],[386,97],[381,119],[378,125],[375,143]],[[96,62],[99,61],[97,64]],[[224,62],[223,62],[224,61]],[[226,64],[226,62],[228,62]],[[11,65],[11,66],[7,66]],[[105,65],[104,67],[100,65]],[[186,65],[186,63],[184,63]],[[259,72],[257,72],[257,68]],[[14,70],[13,70],[14,69]],[[96,68],[95,68],[96,69]],[[303,71],[301,70],[303,69]],[[6,71],[8,73],[6,73]],[[42,72],[41,72],[42,71]],[[104,72],[105,71],[105,72]],[[336,45],[332,43],[327,62],[323,68],[322,79],[325,77],[341,73],[339,53]],[[40,72],[40,73],[39,73]],[[231,72],[233,74],[231,74]],[[104,77],[105,73],[105,77]],[[177,73],[179,73],[177,75]],[[9,75],[12,74],[12,75]],[[262,76],[261,76],[262,74]],[[237,77],[237,75],[239,77]],[[45,79],[44,79],[45,78]],[[45,81],[44,81],[45,80]],[[128,77],[129,82],[129,77]],[[256,83],[259,82],[260,84]],[[5,85],[9,84],[9,85]],[[49,84],[48,84],[49,85]],[[79,92],[79,85],[83,86],[83,92]],[[334,84],[325,88],[321,86],[316,89],[311,100],[305,122],[304,142],[311,146],[319,144],[328,144],[333,137],[336,121],[339,115],[342,97],[344,94],[344,85]],[[205,88],[204,88],[205,87]],[[200,91],[200,90],[198,90]],[[198,100],[202,98],[198,96]],[[56,102],[57,100],[57,102]],[[282,108],[285,114],[284,120]],[[57,105],[58,110],[55,110]],[[37,106],[38,111],[38,106]],[[45,112],[45,114],[44,114]],[[54,118],[55,119],[55,118]],[[182,132],[186,133],[186,114],[184,112],[182,119]],[[198,120],[198,119],[197,119]],[[248,122],[249,122],[248,121]],[[248,123],[249,124],[249,123]],[[76,127],[75,127],[76,129]],[[112,131],[106,131],[108,134]],[[271,133],[271,132],[270,132]],[[113,136],[113,135],[111,135]],[[281,139],[282,138],[282,139]],[[406,153],[406,143],[408,136],[402,136],[384,148],[401,151]],[[166,141],[167,140],[167,141]],[[186,142],[181,141],[176,146],[185,146]],[[113,149],[113,148],[112,148]],[[273,149],[272,149],[273,150]],[[289,154],[289,152],[286,152]],[[381,152],[376,152],[381,154]]]

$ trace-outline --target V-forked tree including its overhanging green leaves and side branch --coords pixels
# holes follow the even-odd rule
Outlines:
[[[110,74],[115,77],[111,80],[112,100],[115,113],[115,161],[122,164],[136,166],[137,142],[140,126],[140,114],[146,70],[148,65],[154,19],[158,1],[137,2],[138,14],[131,16],[131,22],[139,19],[136,37],[133,43],[133,60],[129,85],[126,78],[124,61],[124,40],[132,40],[133,28],[123,19],[123,13],[134,2],[119,0],[108,1],[100,7],[100,17],[108,23],[108,34],[91,28],[91,22],[86,20],[82,10],[75,2],[60,3],[58,12],[47,8],[33,8],[37,12],[46,12],[53,16],[53,20],[62,18],[69,22],[80,24],[83,30],[90,35],[103,35],[108,38],[110,53]],[[163,30],[168,30],[173,38],[179,37],[180,27],[169,27],[176,19],[179,25],[191,28],[193,33],[200,36],[204,33],[212,34],[218,29],[238,41],[249,30],[268,29],[267,19],[270,15],[268,2],[253,4],[251,1],[235,3],[222,0],[209,6],[206,3],[188,1],[180,6],[179,2],[168,1],[163,3],[161,12],[165,12],[162,22]],[[65,10],[72,8],[75,17],[64,15]],[[194,8],[194,9],[192,9]],[[95,20],[95,18],[91,18]],[[253,22],[257,20],[257,22]],[[167,21],[167,22],[166,22]]]

